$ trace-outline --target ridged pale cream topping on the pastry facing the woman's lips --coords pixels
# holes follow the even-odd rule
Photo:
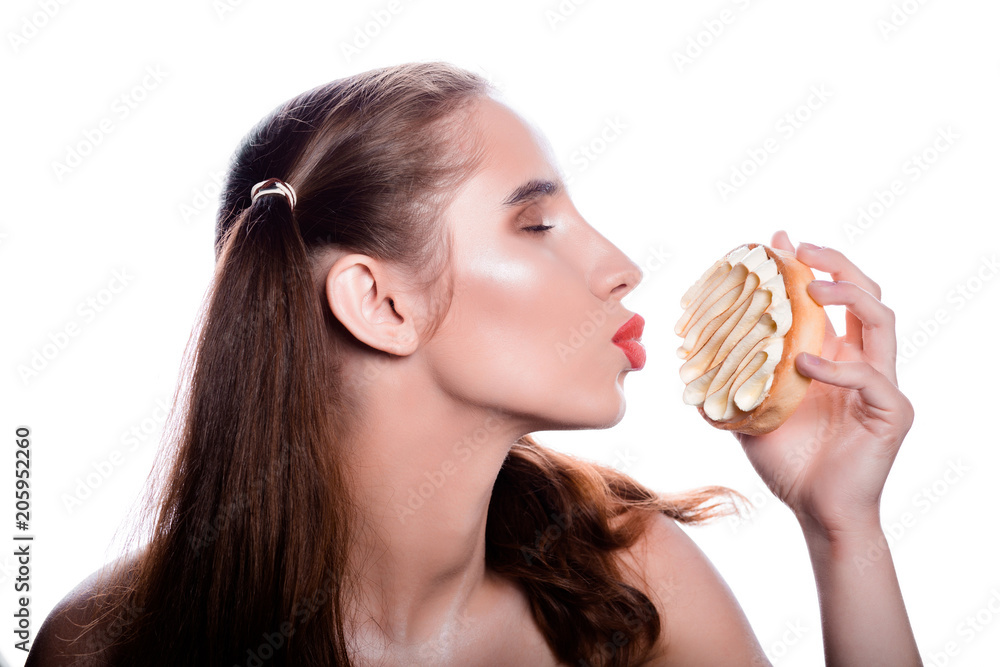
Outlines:
[[[741,417],[767,398],[792,325],[792,304],[774,260],[742,245],[713,264],[681,298],[674,332],[684,339],[684,402],[711,419]]]

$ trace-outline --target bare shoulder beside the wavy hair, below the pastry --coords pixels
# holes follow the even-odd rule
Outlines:
[[[678,523],[663,514],[621,557],[626,580],[660,612],[650,665],[770,665],[722,575]]]

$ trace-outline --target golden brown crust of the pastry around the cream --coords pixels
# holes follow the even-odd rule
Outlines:
[[[760,244],[745,245],[753,250]],[[748,435],[770,433],[795,412],[812,381],[795,368],[795,357],[800,352],[819,355],[826,333],[826,312],[806,292],[806,285],[815,277],[812,269],[795,259],[795,253],[787,250],[764,246],[764,252],[777,265],[792,307],[792,323],[785,334],[781,360],[774,369],[771,388],[763,402],[742,419],[715,421],[705,414],[702,406],[698,406],[698,412],[712,426]]]

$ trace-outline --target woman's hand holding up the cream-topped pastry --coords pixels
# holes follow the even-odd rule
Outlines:
[[[805,353],[795,358],[813,379],[798,409],[770,433],[736,437],[803,528],[828,536],[880,528],[882,487],[913,423],[896,383],[895,316],[879,286],[837,250],[806,243],[796,250],[784,231],[771,246],[830,274],[833,283],[806,289],[822,306],[846,306],[846,335],[838,337],[827,316],[819,363]]]

